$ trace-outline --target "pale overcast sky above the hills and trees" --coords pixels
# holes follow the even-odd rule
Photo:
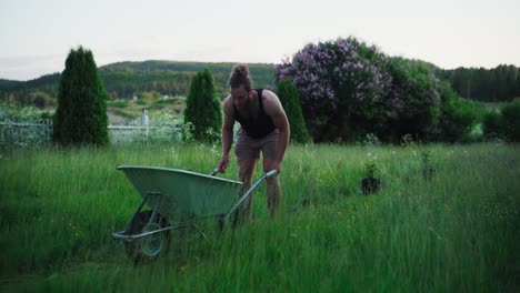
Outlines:
[[[98,65],[280,63],[349,36],[444,69],[520,67],[519,16],[519,0],[0,0],[0,78],[61,72],[79,44]]]

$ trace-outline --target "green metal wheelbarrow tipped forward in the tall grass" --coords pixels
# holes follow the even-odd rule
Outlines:
[[[140,165],[121,165],[142,202],[123,231],[112,233],[123,240],[127,255],[133,261],[154,261],[168,249],[171,230],[194,229],[203,238],[196,220],[218,218],[221,225],[237,215],[246,199],[264,181],[278,173],[272,170],[258,179],[243,194],[242,182],[196,172]],[[144,205],[151,210],[143,211]]]

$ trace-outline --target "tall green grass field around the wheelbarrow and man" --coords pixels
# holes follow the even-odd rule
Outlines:
[[[518,145],[309,145],[288,150],[278,216],[173,242],[134,266],[110,233],[140,198],[120,164],[209,173],[220,146],[17,151],[0,159],[0,291],[518,292]],[[382,186],[363,196],[368,153]],[[421,175],[421,154],[436,169]],[[256,176],[261,174],[257,169]],[[233,162],[226,174],[237,178]],[[311,200],[316,205],[303,206]],[[172,236],[176,236],[172,233]],[[176,246],[179,245],[179,249]]]

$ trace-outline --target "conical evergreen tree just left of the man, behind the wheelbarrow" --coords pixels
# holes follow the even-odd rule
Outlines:
[[[216,141],[220,138],[222,110],[208,68],[197,72],[191,81],[184,123],[193,124],[193,139],[197,141]]]

